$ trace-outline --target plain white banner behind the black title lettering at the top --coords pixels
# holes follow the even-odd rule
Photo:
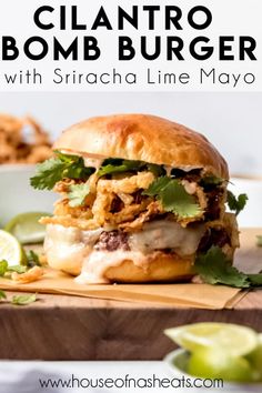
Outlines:
[[[1,62],[0,61],[0,90],[9,91],[13,90],[36,90],[36,85],[7,85],[4,83],[4,79],[2,74],[8,71],[18,72],[19,70],[27,70],[37,68],[39,72],[42,72],[46,78],[43,80],[43,84],[39,87],[40,90],[169,90],[169,91],[179,91],[179,90],[202,90],[202,91],[262,91],[262,74],[261,70],[261,58],[262,58],[262,23],[261,23],[261,14],[262,14],[262,3],[261,0],[177,0],[175,6],[181,7],[183,11],[182,18],[182,27],[183,30],[177,31],[164,31],[164,12],[160,12],[160,18],[157,19],[155,31],[148,30],[148,13],[140,12],[140,27],[139,31],[134,28],[127,24],[127,29],[121,32],[122,36],[130,36],[134,41],[134,46],[138,49],[140,44],[140,36],[145,34],[150,40],[150,46],[152,46],[154,36],[161,36],[163,39],[163,51],[160,59],[155,61],[147,61],[141,56],[132,60],[132,61],[121,61],[118,59],[118,36],[119,31],[117,30],[117,7],[121,4],[123,9],[128,12],[131,11],[131,7],[133,4],[140,6],[140,11],[142,4],[158,4],[163,7],[164,4],[173,4],[172,0],[141,0],[131,2],[130,0],[68,0],[63,2],[68,6],[68,10],[70,11],[70,4],[79,6],[79,22],[87,23],[88,27],[92,24],[98,10],[101,4],[104,6],[107,13],[110,18],[111,23],[113,24],[113,30],[109,31],[105,28],[100,28],[97,31],[71,31],[70,28],[67,31],[59,30],[59,8],[60,2],[54,2],[51,0],[40,1],[40,0],[27,0],[27,1],[1,1],[0,2],[0,34],[1,36],[13,36],[17,38],[18,46],[21,49],[24,41],[31,36],[41,36],[43,37],[51,46],[52,38],[56,36],[61,43],[63,43],[67,48],[72,40],[79,36],[79,40],[81,41],[81,37],[83,36],[92,36],[98,37],[98,40],[101,46],[102,56],[95,62],[84,62],[84,61],[71,61],[70,59],[63,61],[52,61],[52,53],[50,52],[47,59],[41,61],[29,61],[24,56],[19,57],[16,61]],[[44,13],[44,21],[52,21],[56,23],[56,29],[43,31],[37,28],[33,23],[33,13],[39,6],[42,4],[51,4],[56,7],[56,12],[50,17],[48,13]],[[194,30],[187,22],[187,14],[189,10],[194,6],[205,6],[210,8],[213,14],[212,24],[205,30]],[[162,18],[161,18],[162,17]],[[68,14],[68,21],[70,21],[70,13]],[[185,43],[185,61],[167,61],[167,57],[164,56],[165,48],[165,36],[179,36],[183,38]],[[206,61],[198,61],[192,59],[189,54],[188,46],[190,41],[198,36],[206,36],[211,39],[211,44],[215,47],[214,56]],[[235,36],[236,41],[233,43],[233,52],[238,54],[238,37],[239,36],[253,36],[258,41],[258,50],[256,57],[258,61],[220,61],[218,60],[218,37],[219,36]],[[1,47],[1,44],[0,44]],[[0,48],[1,49],[1,48]],[[80,50],[81,52],[81,50]],[[139,51],[138,51],[139,52]],[[60,85],[54,84],[52,82],[53,69],[60,67],[64,72],[72,72],[72,70],[77,70],[79,72],[105,72],[110,71],[113,67],[122,72],[137,72],[140,78],[139,82],[135,85]],[[144,79],[144,70],[150,67],[152,71],[162,70],[165,72],[188,72],[192,74],[192,83],[184,85],[149,85]],[[240,83],[235,89],[232,84],[212,84],[206,83],[204,85],[200,85],[199,83],[199,69],[201,67],[210,70],[215,68],[218,72],[229,72],[229,73],[246,73],[253,72],[256,74],[256,83],[255,84],[243,84]]]

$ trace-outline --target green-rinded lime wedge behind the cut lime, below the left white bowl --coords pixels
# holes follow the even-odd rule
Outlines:
[[[4,231],[13,234],[21,244],[41,243],[46,234],[44,225],[39,223],[43,212],[29,212],[16,215],[4,226]]]

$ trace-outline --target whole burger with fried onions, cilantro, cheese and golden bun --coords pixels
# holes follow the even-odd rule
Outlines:
[[[203,135],[120,114],[70,128],[53,149],[31,179],[61,194],[41,219],[50,266],[81,283],[170,282],[192,276],[196,255],[213,245],[233,259],[228,165]]]

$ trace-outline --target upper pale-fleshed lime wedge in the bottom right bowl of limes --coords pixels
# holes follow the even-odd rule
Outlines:
[[[243,356],[259,344],[258,334],[252,329],[230,323],[194,323],[168,329],[164,334],[190,352],[218,349],[232,356]]]

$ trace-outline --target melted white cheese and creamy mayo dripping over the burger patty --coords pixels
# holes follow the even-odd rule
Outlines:
[[[124,260],[134,264],[148,263],[148,254],[154,250],[172,249],[181,256],[195,253],[204,233],[204,225],[182,228],[173,221],[159,220],[144,224],[143,231],[129,235],[130,251],[98,251],[93,249],[104,229],[81,231],[77,228],[47,225],[44,251],[49,264],[59,270],[81,274],[81,284],[107,283],[104,272],[119,266]]]

